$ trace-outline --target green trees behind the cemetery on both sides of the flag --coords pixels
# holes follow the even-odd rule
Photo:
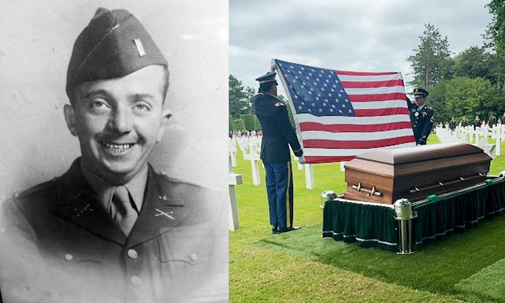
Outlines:
[[[491,114],[501,116],[505,112],[505,1],[492,0],[486,8],[492,21],[482,34],[484,46],[472,45],[453,54],[447,36],[442,37],[428,23],[413,49],[415,54],[407,58],[414,76],[408,84],[430,92],[428,105],[435,111],[435,123],[451,117],[459,122],[463,116],[470,121],[475,116],[487,120]],[[230,121],[240,120],[241,115],[254,117],[254,95],[255,89],[244,87],[230,74]],[[285,102],[284,96],[279,99]]]

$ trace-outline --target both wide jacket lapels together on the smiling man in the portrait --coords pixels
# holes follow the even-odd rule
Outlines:
[[[57,180],[57,212],[94,234],[133,246],[170,230],[189,215],[189,208],[184,207],[183,193],[173,187],[168,178],[155,173],[149,165],[144,202],[127,238],[100,205],[98,196],[80,171],[80,158],[77,158]]]

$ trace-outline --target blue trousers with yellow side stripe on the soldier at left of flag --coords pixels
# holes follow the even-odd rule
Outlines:
[[[291,162],[265,165],[270,225],[278,228],[293,226],[293,174]]]

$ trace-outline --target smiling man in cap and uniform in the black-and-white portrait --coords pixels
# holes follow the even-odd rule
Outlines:
[[[126,10],[98,9],[78,36],[64,114],[81,157],[4,203],[4,302],[227,300],[213,192],[147,163],[170,118],[167,66]]]

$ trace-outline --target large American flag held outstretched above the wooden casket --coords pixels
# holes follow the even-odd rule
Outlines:
[[[371,149],[415,145],[401,73],[274,62],[307,163],[348,161]]]

